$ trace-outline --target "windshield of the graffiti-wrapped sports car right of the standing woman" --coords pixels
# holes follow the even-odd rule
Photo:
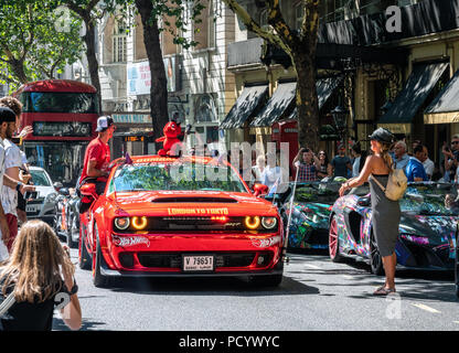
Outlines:
[[[457,215],[457,195],[453,184],[410,184],[401,200],[401,210],[416,215]]]

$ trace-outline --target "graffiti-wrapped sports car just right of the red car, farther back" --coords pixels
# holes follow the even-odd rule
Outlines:
[[[331,206],[340,196],[341,183],[305,182],[297,183],[291,207],[289,248],[327,249],[329,247],[329,221]],[[293,183],[282,197],[281,215],[287,227],[290,214],[290,200]]]

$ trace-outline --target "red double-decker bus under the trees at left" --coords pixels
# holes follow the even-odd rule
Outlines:
[[[96,136],[96,88],[76,81],[46,79],[25,84],[13,96],[23,104],[21,129],[33,127],[23,141],[29,163],[45,169],[53,182],[75,185],[86,146]]]

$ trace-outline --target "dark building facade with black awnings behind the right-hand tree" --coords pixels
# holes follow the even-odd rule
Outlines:
[[[401,32],[386,30],[391,6],[399,8]],[[247,2],[246,8],[267,25],[266,9],[257,2]],[[430,159],[441,161],[441,146],[459,132],[455,114],[459,107],[452,103],[459,69],[458,9],[458,0],[321,1],[317,89],[322,149],[333,153],[340,141],[348,145],[350,139],[369,147],[367,136],[381,126],[408,146],[425,142]],[[301,2],[285,0],[281,11],[290,28],[298,29]],[[273,141],[273,122],[296,119],[295,85],[289,85],[295,74],[285,53],[266,45],[237,20],[235,39],[227,65],[235,74],[238,98],[221,128],[231,140]],[[274,104],[287,107],[273,113]],[[237,120],[241,107],[250,113]],[[335,107],[346,111],[343,127],[332,118]]]

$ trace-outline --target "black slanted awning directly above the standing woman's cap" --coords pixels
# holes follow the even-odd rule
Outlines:
[[[448,63],[414,65],[405,87],[378,124],[412,122],[447,67]]]

